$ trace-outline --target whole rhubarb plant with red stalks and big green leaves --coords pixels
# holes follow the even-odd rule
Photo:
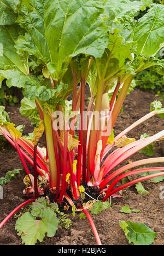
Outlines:
[[[163,176],[163,167],[137,169],[162,163],[163,157],[138,160],[113,172],[134,153],[163,140],[164,130],[137,141],[126,137],[154,115],[163,118],[164,108],[159,104],[114,137],[116,119],[134,88],[135,75],[151,66],[163,72],[163,60],[157,58],[164,42],[163,5],[151,0],[5,2],[8,8],[3,4],[0,8],[1,81],[6,79],[9,88],[22,89],[25,98],[20,111],[28,115],[37,107],[40,122],[32,140],[22,137],[5,116],[0,132],[20,155],[32,183],[31,196],[37,199],[49,190],[54,202],[67,201],[86,213],[73,203],[80,198],[81,185],[105,191],[105,202],[119,190]],[[146,9],[136,20],[135,14]],[[42,76],[36,75],[38,70]],[[87,85],[90,99],[86,107]],[[38,146],[42,135],[44,149]],[[25,160],[33,167],[33,175]],[[127,176],[153,170],[158,172],[115,187]],[[38,174],[48,182],[42,191]]]

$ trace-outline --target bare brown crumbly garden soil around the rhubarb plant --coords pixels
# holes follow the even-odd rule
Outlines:
[[[155,99],[153,92],[144,92],[134,90],[125,99],[123,105],[123,113],[119,114],[118,120],[115,125],[115,135],[125,129],[125,127],[138,120],[143,115],[149,113],[150,103]],[[163,104],[164,105],[164,104]],[[30,121],[23,118],[19,114],[19,104],[14,107],[7,106],[7,112],[9,113],[11,122],[16,125],[24,124],[24,135],[33,131],[33,127],[30,125]],[[128,133],[128,137],[135,137],[138,139],[141,134],[148,133],[153,135],[164,129],[164,121],[158,116],[151,118],[144,124],[139,125],[136,129]],[[156,142],[154,157],[164,156],[164,142]],[[148,158],[143,153],[136,153],[128,160],[139,160]],[[127,160],[125,161],[125,164]],[[152,165],[153,166],[153,165]],[[158,165],[160,166],[160,164]],[[20,159],[15,149],[10,144],[5,144],[1,147],[0,152],[0,177],[14,168],[22,168]],[[4,198],[0,199],[0,222],[15,208],[17,205],[26,201],[26,198],[22,193],[25,186],[23,179],[25,172],[22,171],[17,179],[12,179],[7,185],[3,186]],[[160,183],[152,183],[150,181],[142,182],[144,188],[149,192],[148,194],[139,194],[135,186],[126,188],[121,192],[121,197],[112,197],[112,207],[110,209],[103,210],[98,215],[92,215],[92,219],[95,222],[99,237],[103,245],[128,245],[128,240],[125,237],[124,231],[119,225],[119,221],[130,220],[133,222],[144,223],[155,232],[157,236],[153,244],[164,245],[164,199],[160,199],[160,188],[164,186],[164,181]],[[122,206],[129,205],[130,209],[139,209],[138,213],[120,213]],[[20,211],[19,211],[20,212]],[[19,213],[17,212],[17,214]],[[71,227],[66,230],[59,226],[55,237],[45,237],[44,242],[37,244],[43,245],[88,245],[96,244],[95,237],[93,235],[91,226],[87,219],[80,220],[79,214],[76,213],[72,216],[70,213],[69,218],[72,220]],[[21,243],[21,237],[17,236],[15,231],[16,219],[14,216],[10,218],[7,223],[0,230],[0,245],[19,245]]]

